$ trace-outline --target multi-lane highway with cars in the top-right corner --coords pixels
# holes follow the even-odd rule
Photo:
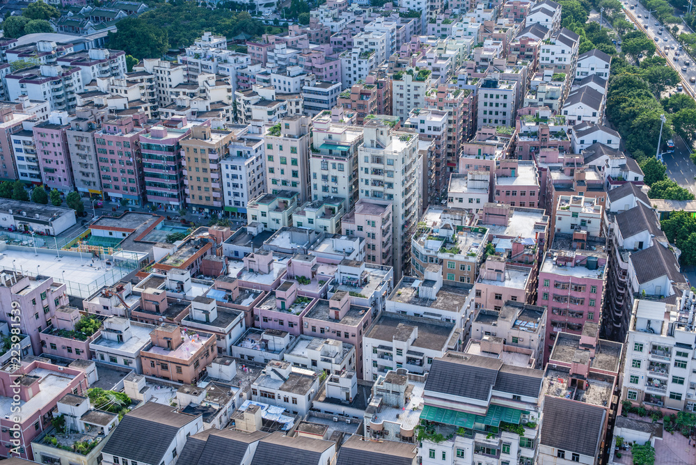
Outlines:
[[[631,5],[638,6],[634,6],[633,10],[631,10]],[[692,77],[696,79],[696,63],[694,63],[694,60],[689,58],[686,52],[681,51],[679,53],[679,62],[677,63],[674,61],[675,54],[679,48],[679,42],[672,37],[672,34],[668,32],[666,28],[663,33],[659,34],[658,32],[662,25],[658,22],[657,18],[649,14],[647,8],[638,3],[638,1],[631,0],[624,2],[624,12],[626,13],[626,18],[633,22],[633,24],[638,24],[638,27],[642,29],[649,38],[653,40],[657,38],[655,45],[657,45],[658,54],[667,58],[667,63],[679,72],[683,80],[684,90],[686,90],[691,97],[696,99],[696,84],[690,82]],[[669,45],[670,49],[665,50],[665,45]],[[682,70],[684,61],[690,61],[686,70]]]

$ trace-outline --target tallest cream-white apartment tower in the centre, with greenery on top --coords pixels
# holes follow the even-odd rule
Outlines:
[[[424,93],[425,94],[425,93]],[[406,113],[406,116],[408,113]],[[409,248],[402,247],[416,231],[421,207],[418,137],[397,132],[388,123],[370,120],[358,148],[360,198],[389,200],[393,207],[393,267],[400,278],[409,266]]]

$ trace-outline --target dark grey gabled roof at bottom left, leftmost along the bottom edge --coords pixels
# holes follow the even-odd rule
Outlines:
[[[177,413],[168,405],[148,402],[123,417],[102,452],[145,464],[159,464],[179,429],[196,418]]]

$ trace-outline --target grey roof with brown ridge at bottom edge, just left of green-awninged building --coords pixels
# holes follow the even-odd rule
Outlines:
[[[418,447],[414,444],[351,436],[341,446],[336,465],[413,465],[416,455]]]

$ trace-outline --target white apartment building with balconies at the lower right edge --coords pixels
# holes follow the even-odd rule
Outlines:
[[[636,299],[628,327],[622,400],[696,411],[694,294],[677,304]]]

